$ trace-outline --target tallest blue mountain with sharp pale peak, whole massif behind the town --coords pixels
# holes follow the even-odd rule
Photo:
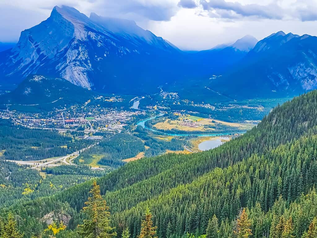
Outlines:
[[[168,81],[163,75],[177,64],[178,54],[175,46],[134,22],[96,14],[89,18],[56,6],[47,20],[24,30],[16,46],[0,54],[0,71],[16,83],[30,74],[45,74],[87,89],[117,91],[122,87],[118,79],[126,89],[150,79]]]

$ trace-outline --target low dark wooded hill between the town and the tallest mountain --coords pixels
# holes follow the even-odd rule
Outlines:
[[[84,103],[93,92],[76,86],[65,79],[42,75],[28,76],[13,91],[0,95],[0,104],[33,106],[41,109],[64,108]]]

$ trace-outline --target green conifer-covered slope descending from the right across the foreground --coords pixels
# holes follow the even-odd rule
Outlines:
[[[149,207],[159,238],[232,237],[246,215],[249,237],[301,237],[316,223],[316,126],[317,91],[312,91],[276,107],[258,126],[216,149],[130,162],[97,180],[112,225],[119,236],[128,227],[134,238]],[[71,215],[68,228],[75,229],[91,184],[14,204],[2,213],[21,217],[25,237],[39,235],[47,227],[41,218],[51,211]]]

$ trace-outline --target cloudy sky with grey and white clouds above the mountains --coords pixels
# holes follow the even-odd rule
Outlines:
[[[184,50],[210,49],[245,35],[262,39],[283,30],[317,35],[317,0],[0,0],[0,42],[49,17],[55,5],[89,16],[135,20]]]

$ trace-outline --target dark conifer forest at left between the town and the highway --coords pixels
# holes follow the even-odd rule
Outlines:
[[[57,131],[15,126],[11,120],[0,119],[1,157],[6,160],[42,160],[73,153],[92,143]]]

